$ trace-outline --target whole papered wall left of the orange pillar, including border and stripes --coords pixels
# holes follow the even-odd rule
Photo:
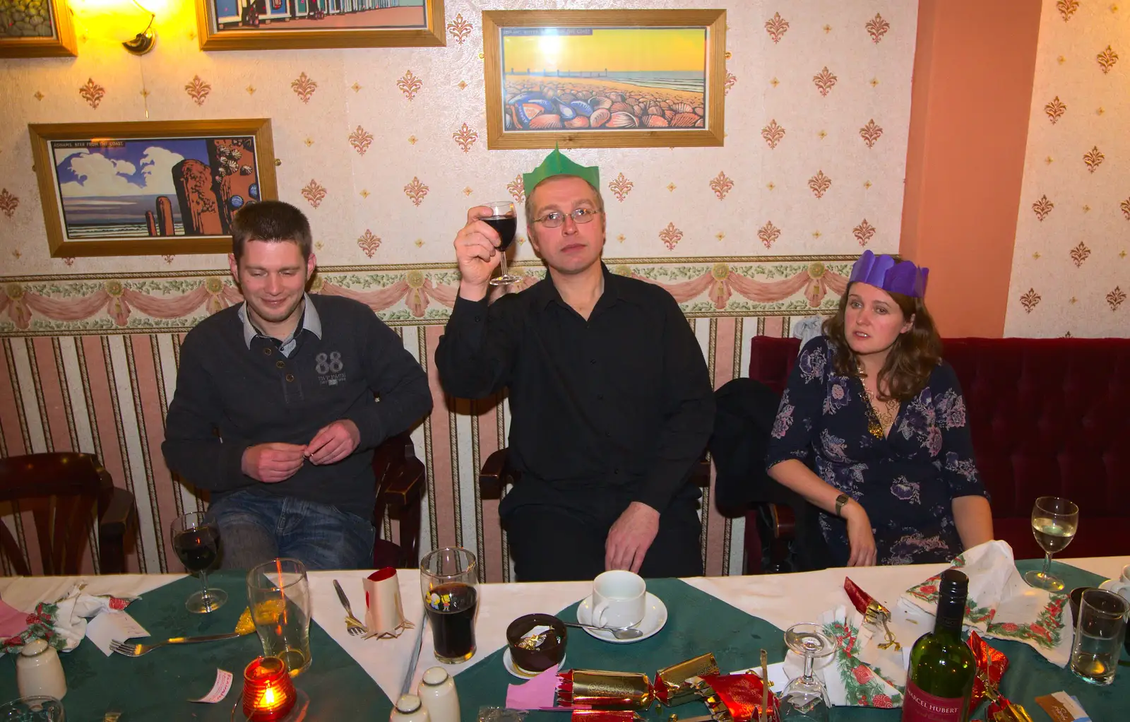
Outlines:
[[[133,7],[121,2],[123,12]],[[429,368],[435,408],[412,433],[428,471],[421,547],[469,546],[487,579],[506,579],[497,503],[481,502],[476,482],[505,438],[506,403],[445,399],[429,363],[458,287],[451,241],[466,209],[520,199],[519,174],[545,155],[486,149],[486,3],[446,1],[446,47],[202,53],[193,3],[166,0],[157,46],[140,59],[118,46],[128,23],[104,29],[87,0],[73,5],[79,58],[0,64],[0,455],[97,453],[138,501],[131,567],[179,568],[164,530],[201,501],[164,466],[164,411],[183,333],[238,303],[238,292],[218,254],[50,258],[26,127],[271,118],[279,194],[314,228],[313,290],[367,303]],[[897,250],[916,3],[741,1],[728,24],[723,148],[571,153],[601,166],[614,271],[675,295],[715,386],[746,374],[753,336],[809,332],[863,246]],[[518,259],[527,282],[541,275],[528,244]],[[740,573],[744,520],[722,519],[710,493],[707,573]],[[34,550],[26,515],[0,523]],[[383,527],[386,538],[394,532]]]

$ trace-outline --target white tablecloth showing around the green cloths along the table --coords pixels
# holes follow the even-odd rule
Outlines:
[[[1061,560],[1110,579],[1116,577],[1122,567],[1130,564],[1130,556]],[[695,577],[684,581],[783,629],[798,621],[815,620],[822,612],[836,604],[849,603],[847,595],[843,591],[845,573],[872,597],[894,607],[902,592],[946,567],[945,564],[857,567],[801,574]],[[332,581],[336,579],[349,595],[354,611],[362,616],[365,608],[362,580],[367,574],[365,571],[311,572],[313,618],[350,656],[357,660],[390,699],[395,699],[400,694],[412,646],[416,644],[416,630],[408,630],[397,640],[360,640],[349,636],[344,621],[345,612],[333,591]],[[86,582],[87,591],[94,594],[145,594],[182,576],[184,575],[123,574],[90,576],[86,577]],[[415,569],[401,569],[398,580],[405,615],[418,624],[424,608],[419,573]],[[76,577],[0,577],[0,599],[17,609],[29,611],[40,600],[62,597],[76,581]],[[480,585],[479,612],[475,627],[478,651],[471,660],[449,666],[447,670],[452,675],[458,675],[495,650],[505,646],[506,627],[514,618],[537,611],[554,614],[584,598],[590,590],[589,582]],[[232,603],[238,603],[241,591],[227,591]],[[155,636],[160,635],[160,630],[150,629],[150,632]],[[314,663],[318,663],[316,653]],[[432,651],[432,635],[427,633],[424,635],[412,689],[424,671],[436,663]]]

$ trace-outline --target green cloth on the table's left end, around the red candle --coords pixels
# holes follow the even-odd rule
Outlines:
[[[189,614],[184,608],[188,595],[200,589],[194,577],[147,592],[130,604],[129,612],[154,640],[231,632],[246,607],[244,580],[243,572],[211,574],[209,582],[228,593],[228,602],[208,615]],[[316,624],[310,625],[310,669],[295,679],[295,686],[310,697],[307,720],[389,719],[392,704],[376,682]],[[67,719],[94,722],[116,710],[123,713],[122,722],[227,722],[243,689],[243,670],[260,654],[257,634],[167,646],[139,658],[107,658],[84,640],[73,651],[60,654],[67,673]],[[211,689],[217,668],[235,675],[227,697],[217,704],[188,702]],[[7,655],[0,660],[0,702],[18,696],[15,656]]]

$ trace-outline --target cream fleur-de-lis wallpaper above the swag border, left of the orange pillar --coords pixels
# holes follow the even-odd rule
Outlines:
[[[138,59],[116,45],[120,31],[103,29],[76,1],[77,59],[0,67],[3,275],[223,269],[219,255],[47,255],[27,123],[141,121],[147,113],[271,118],[280,197],[311,216],[323,266],[450,261],[466,208],[520,197],[515,179],[545,151],[486,149],[483,3],[445,5],[446,47],[203,53],[193,3],[168,2],[155,50]],[[915,3],[895,0],[731,3],[725,147],[574,153],[601,166],[609,255],[896,250],[915,21]],[[532,258],[527,244],[518,258]]]

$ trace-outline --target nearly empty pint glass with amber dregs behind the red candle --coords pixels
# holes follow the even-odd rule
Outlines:
[[[298,559],[271,559],[247,572],[247,602],[263,656],[286,662],[292,677],[310,667],[310,583]]]

